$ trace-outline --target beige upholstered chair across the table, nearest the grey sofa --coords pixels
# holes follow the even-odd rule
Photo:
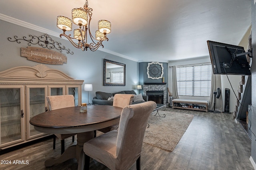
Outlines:
[[[124,108],[124,107],[132,104],[133,98],[134,98],[133,94],[115,94],[114,100],[113,100],[113,106]],[[98,129],[98,131],[107,133],[109,131],[117,130],[118,125],[119,125],[119,123],[109,126],[109,127],[105,127],[103,129]],[[95,131],[94,131],[94,137],[96,137]]]

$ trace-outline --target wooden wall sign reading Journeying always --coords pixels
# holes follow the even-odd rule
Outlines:
[[[67,63],[67,57],[64,54],[38,47],[21,48],[21,57],[44,64],[60,65]]]

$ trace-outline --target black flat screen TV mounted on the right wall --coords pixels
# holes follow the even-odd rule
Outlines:
[[[207,41],[213,74],[251,75],[244,47]]]

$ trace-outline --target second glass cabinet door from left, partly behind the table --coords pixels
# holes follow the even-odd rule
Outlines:
[[[27,129],[29,129],[27,132],[27,139],[38,137],[38,135],[44,135],[44,133],[41,133],[39,131],[36,131],[34,129],[34,126],[29,123],[29,120],[34,117],[35,115],[38,115],[40,113],[43,113],[46,111],[46,91],[47,88],[45,87],[35,87],[35,86],[27,86],[26,87],[26,100],[27,100],[27,111],[29,112],[29,119],[28,119],[28,125]]]

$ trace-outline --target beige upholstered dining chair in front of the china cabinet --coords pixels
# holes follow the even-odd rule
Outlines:
[[[64,107],[73,107],[75,106],[74,96],[73,95],[59,95],[59,96],[46,96],[48,102],[49,110],[61,109]],[[72,137],[72,142],[74,142],[76,134],[54,134],[53,137],[53,149],[56,145],[56,137],[60,139],[61,154],[65,151],[65,141],[64,139]]]

